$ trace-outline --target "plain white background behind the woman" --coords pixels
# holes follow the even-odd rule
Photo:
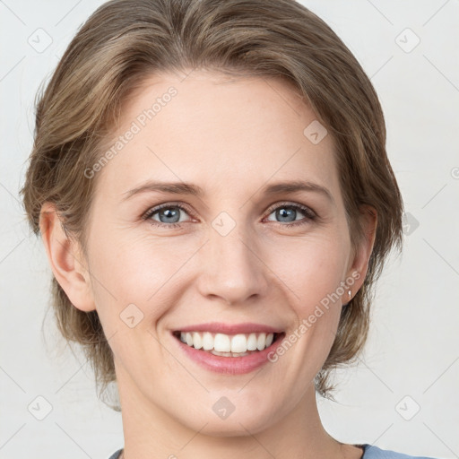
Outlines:
[[[123,446],[121,415],[98,401],[91,368],[59,342],[52,313],[42,339],[50,270],[18,197],[35,93],[101,3],[0,2],[1,459],[104,459]],[[459,457],[459,2],[302,3],[338,33],[377,89],[411,222],[403,255],[378,283],[362,359],[337,374],[337,403],[319,399],[325,428],[346,443]],[[39,28],[52,39],[43,52],[28,42]],[[52,406],[41,421],[28,411],[38,396]]]

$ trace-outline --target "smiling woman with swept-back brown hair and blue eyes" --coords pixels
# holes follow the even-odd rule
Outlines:
[[[114,0],[39,100],[22,190],[60,330],[146,457],[410,457],[316,393],[368,333],[403,202],[367,75],[290,0]]]

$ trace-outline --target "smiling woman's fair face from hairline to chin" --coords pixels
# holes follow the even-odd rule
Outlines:
[[[182,78],[146,82],[91,169],[93,307],[122,405],[209,435],[255,433],[311,403],[343,284],[355,294],[368,253],[351,253],[332,138],[287,83]],[[268,345],[282,334],[241,357],[188,345],[264,348],[263,332]]]

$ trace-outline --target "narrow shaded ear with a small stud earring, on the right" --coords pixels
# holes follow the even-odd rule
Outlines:
[[[348,303],[359,291],[368,272],[368,262],[377,233],[377,210],[370,205],[362,205],[360,207],[360,221],[363,229],[363,238],[359,241],[358,247],[353,251],[351,267],[348,270],[346,279],[353,279],[354,282],[349,282],[349,288],[343,296],[343,304]],[[348,290],[351,290],[351,299],[348,295]]]

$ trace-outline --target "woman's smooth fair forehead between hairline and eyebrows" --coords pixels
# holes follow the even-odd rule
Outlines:
[[[290,82],[205,71],[152,75],[121,113],[104,146],[114,158],[99,177],[112,193],[151,179],[254,191],[270,180],[312,178],[338,192],[333,139]]]

